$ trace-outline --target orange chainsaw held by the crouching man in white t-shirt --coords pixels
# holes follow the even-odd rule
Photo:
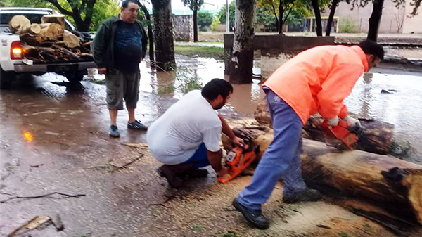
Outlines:
[[[249,139],[243,139],[243,141],[245,142],[243,147],[235,146],[224,158],[224,166],[228,168],[229,175],[217,177],[219,182],[225,184],[231,181],[231,179],[241,174],[257,157],[257,147],[252,147]]]

